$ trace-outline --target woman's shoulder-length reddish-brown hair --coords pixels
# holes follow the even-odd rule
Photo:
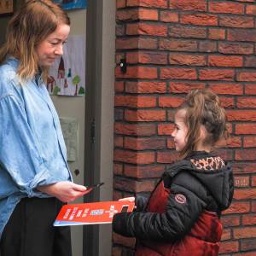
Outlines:
[[[9,21],[6,42],[0,49],[0,63],[8,55],[20,60],[18,76],[32,79],[38,72],[36,46],[54,32],[59,24],[70,25],[67,14],[50,0],[27,0]],[[42,67],[45,78],[47,68]]]

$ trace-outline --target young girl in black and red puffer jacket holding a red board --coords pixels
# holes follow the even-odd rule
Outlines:
[[[135,255],[218,255],[219,218],[234,187],[230,164],[212,149],[226,135],[218,96],[192,90],[177,109],[172,132],[182,160],[164,172],[148,201],[137,197],[135,212],[113,217],[115,232],[137,238]]]

